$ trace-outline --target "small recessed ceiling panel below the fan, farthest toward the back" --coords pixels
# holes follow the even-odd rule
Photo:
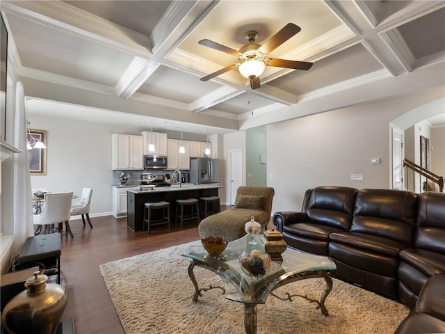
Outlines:
[[[216,106],[213,106],[212,109],[241,115],[241,113],[261,109],[264,106],[268,106],[273,103],[275,102],[265,99],[264,97],[243,93],[223,103],[216,104]]]

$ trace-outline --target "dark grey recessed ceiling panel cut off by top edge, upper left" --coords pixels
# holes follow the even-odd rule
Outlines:
[[[151,35],[172,1],[63,1],[133,31]]]

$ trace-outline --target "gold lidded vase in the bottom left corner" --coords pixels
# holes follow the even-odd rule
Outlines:
[[[35,271],[22,291],[6,304],[1,323],[10,334],[54,334],[67,305],[65,287],[48,283]]]

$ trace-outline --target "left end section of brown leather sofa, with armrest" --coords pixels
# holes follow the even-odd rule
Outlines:
[[[345,186],[308,189],[301,212],[277,212],[273,223],[289,246],[327,255],[329,234],[350,228],[357,191]]]

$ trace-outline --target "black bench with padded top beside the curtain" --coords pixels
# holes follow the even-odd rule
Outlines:
[[[20,251],[15,270],[28,269],[43,265],[45,275],[57,274],[60,284],[60,233],[35,235],[26,239]]]

